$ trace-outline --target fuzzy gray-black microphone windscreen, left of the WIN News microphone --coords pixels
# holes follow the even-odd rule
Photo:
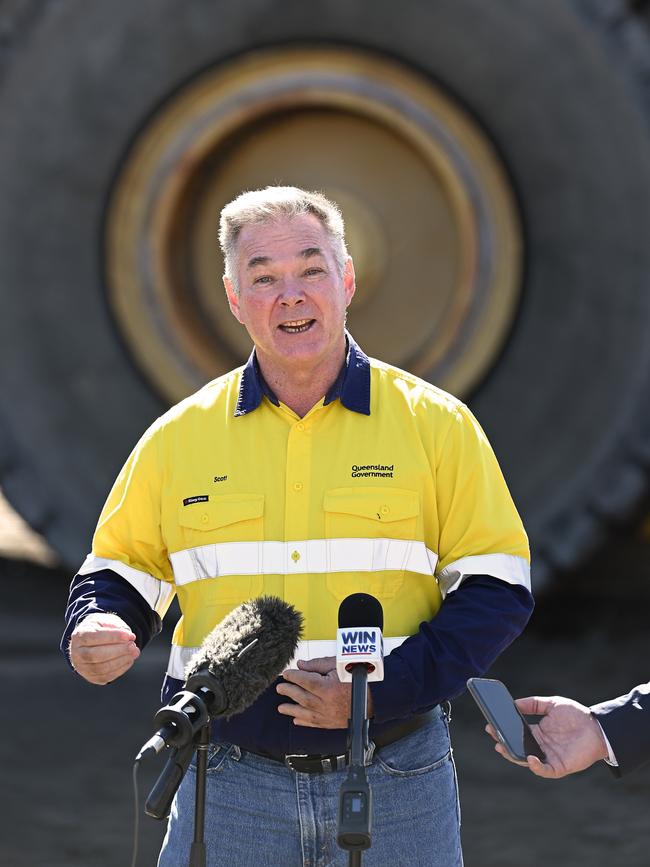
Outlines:
[[[303,618],[275,596],[259,596],[230,612],[188,663],[187,690],[215,696],[210,716],[242,713],[293,659]]]

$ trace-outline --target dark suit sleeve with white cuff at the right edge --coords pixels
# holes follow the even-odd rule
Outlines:
[[[627,695],[594,705],[591,712],[610,742],[624,776],[650,761],[650,683],[640,684]]]

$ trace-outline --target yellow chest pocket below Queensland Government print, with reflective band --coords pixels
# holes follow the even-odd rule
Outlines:
[[[404,580],[408,543],[418,538],[418,492],[335,488],[325,494],[323,508],[336,570],[328,573],[329,591],[339,600],[350,593],[371,593],[380,600],[395,596]]]

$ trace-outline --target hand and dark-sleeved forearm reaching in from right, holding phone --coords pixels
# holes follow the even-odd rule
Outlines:
[[[546,754],[546,762],[528,756],[538,777],[559,779],[605,761],[622,777],[650,761],[650,683],[627,695],[585,707],[562,696],[529,696],[515,702],[523,714],[541,716],[533,734]],[[488,733],[496,740],[491,726]],[[495,749],[509,759],[497,742]]]

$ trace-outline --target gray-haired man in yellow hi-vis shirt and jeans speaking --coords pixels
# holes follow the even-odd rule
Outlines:
[[[521,521],[467,408],[368,359],[345,331],[355,277],[335,205],[293,187],[244,193],[224,208],[220,241],[230,309],[254,351],[136,446],[73,582],[63,646],[69,637],[82,676],[114,680],[176,592],[166,699],[234,606],[262,593],[295,605],[305,618],[297,665],[213,726],[209,863],[343,865],[350,690],[333,639],[341,601],[371,593],[390,655],[369,691],[365,860],[454,867],[459,811],[441,703],[530,616]],[[185,863],[193,788],[190,772],[161,867]]]

